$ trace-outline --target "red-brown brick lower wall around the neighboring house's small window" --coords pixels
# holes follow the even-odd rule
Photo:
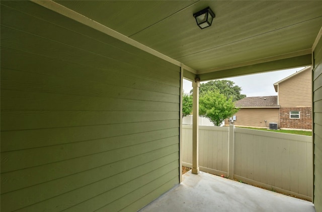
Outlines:
[[[290,119],[290,111],[300,111],[299,119]],[[312,129],[311,107],[280,108],[280,128]]]

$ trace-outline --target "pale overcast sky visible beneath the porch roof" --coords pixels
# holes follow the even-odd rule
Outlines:
[[[287,69],[282,71],[266,72],[262,74],[252,74],[240,77],[224,78],[221,80],[231,80],[241,87],[241,94],[251,96],[277,96],[273,84],[296,73],[303,68]],[[183,89],[189,93],[192,89],[192,83],[184,80]]]

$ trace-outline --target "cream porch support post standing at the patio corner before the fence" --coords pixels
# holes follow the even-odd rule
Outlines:
[[[193,87],[193,110],[192,110],[192,173],[199,173],[198,162],[198,131],[199,131],[199,87],[200,82],[195,81],[192,83]]]

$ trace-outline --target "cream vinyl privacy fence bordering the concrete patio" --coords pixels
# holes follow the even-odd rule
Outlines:
[[[199,126],[201,171],[311,200],[312,160],[311,136]],[[192,166],[191,125],[183,125],[183,165]]]

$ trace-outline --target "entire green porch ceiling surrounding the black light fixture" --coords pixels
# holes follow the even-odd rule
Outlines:
[[[199,71],[310,49],[322,26],[321,1],[57,3]],[[200,30],[193,13],[208,6],[216,18]]]

